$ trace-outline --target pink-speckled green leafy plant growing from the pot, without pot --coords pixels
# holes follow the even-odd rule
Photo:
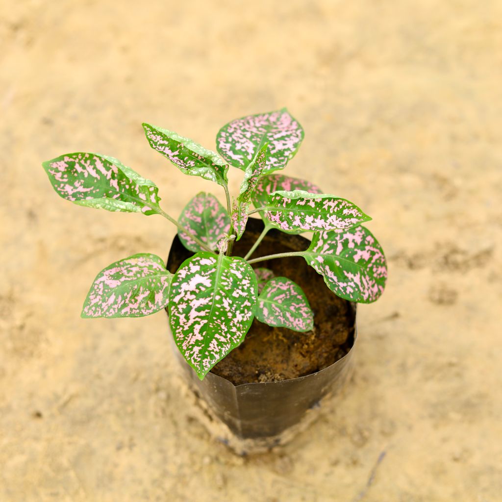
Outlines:
[[[301,256],[341,298],[369,303],[382,294],[385,256],[361,225],[370,218],[352,202],[324,194],[308,181],[273,174],[286,167],[304,137],[286,109],[232,120],[218,132],[218,153],[172,131],[147,123],[143,127],[150,146],[181,172],[223,187],[226,207],[201,192],[176,220],[160,207],[155,183],[117,159],[73,153],[44,162],[52,186],[64,199],[108,211],[160,214],[178,227],[181,242],[195,253],[174,275],[149,253],[111,264],[94,279],[82,317],[141,317],[167,307],[176,345],[203,379],[243,341],[255,317],[296,331],[313,328],[300,286],[268,269],[254,270],[255,263]],[[227,187],[230,165],[244,174],[233,200]],[[233,242],[253,213],[261,215],[265,229],[244,258],[232,256]],[[313,232],[312,242],[302,252],[249,260],[271,228]]]

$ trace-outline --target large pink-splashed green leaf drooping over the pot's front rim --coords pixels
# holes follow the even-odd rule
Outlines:
[[[255,273],[242,258],[197,253],[176,272],[169,294],[171,330],[201,380],[244,339],[256,297]]]

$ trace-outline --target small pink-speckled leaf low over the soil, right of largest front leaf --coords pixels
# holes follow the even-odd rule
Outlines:
[[[258,297],[256,318],[268,324],[294,331],[310,331],[314,314],[302,288],[291,279],[271,279]]]

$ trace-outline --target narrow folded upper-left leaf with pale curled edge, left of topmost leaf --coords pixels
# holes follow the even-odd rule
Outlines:
[[[182,173],[200,176],[221,186],[228,183],[228,164],[216,152],[177,133],[144,123],[143,129],[150,146],[168,158]]]

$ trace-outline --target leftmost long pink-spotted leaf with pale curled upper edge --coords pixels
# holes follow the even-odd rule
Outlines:
[[[155,183],[113,157],[79,152],[61,155],[42,166],[54,190],[75,204],[144,214],[159,209]]]

